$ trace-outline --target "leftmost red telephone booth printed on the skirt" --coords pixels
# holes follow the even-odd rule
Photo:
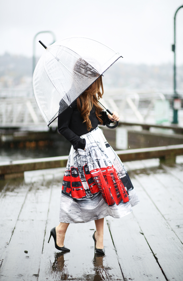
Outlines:
[[[94,169],[90,171],[90,174],[92,178],[94,179],[96,185],[98,186],[100,192],[102,193],[102,196],[106,203],[111,206],[115,203],[114,198],[111,194],[111,190],[108,187],[108,184],[106,183],[104,176],[102,174],[101,169]]]

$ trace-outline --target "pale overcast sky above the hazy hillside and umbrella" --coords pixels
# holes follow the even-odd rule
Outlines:
[[[0,54],[32,56],[33,37],[51,30],[95,39],[118,51],[124,63],[173,63],[173,17],[183,0],[1,0]],[[177,64],[183,64],[183,8],[177,14]],[[39,35],[46,45],[49,34]],[[44,51],[36,44],[36,54]]]

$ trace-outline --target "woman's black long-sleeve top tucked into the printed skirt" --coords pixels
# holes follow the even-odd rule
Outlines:
[[[108,118],[106,111],[102,111],[101,114],[103,125],[105,125],[106,122],[112,122]],[[76,100],[58,116],[58,131],[73,145],[75,150],[78,148],[85,148],[86,141],[85,139],[80,138],[80,136],[91,132],[98,126],[98,124],[100,124],[96,117],[94,106],[90,111],[89,119],[91,121],[92,128],[88,131],[86,122],[83,123],[84,119],[81,117],[81,112],[79,112],[77,108]]]

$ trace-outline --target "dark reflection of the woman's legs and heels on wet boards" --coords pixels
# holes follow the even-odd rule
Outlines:
[[[86,274],[83,272],[81,273],[81,276],[79,278],[72,276],[69,274],[67,269],[67,264],[65,261],[68,261],[68,259],[64,255],[66,255],[67,252],[60,252],[55,253],[55,261],[53,264],[51,264],[50,273],[53,280],[78,280],[78,281],[103,281],[103,280],[116,280],[114,279],[114,275],[112,273],[112,268],[109,268],[108,266],[104,266],[104,261],[106,264],[106,258],[102,254],[95,253],[94,259],[92,260],[93,268],[90,270],[92,271],[91,274]],[[120,280],[120,279],[119,279]]]

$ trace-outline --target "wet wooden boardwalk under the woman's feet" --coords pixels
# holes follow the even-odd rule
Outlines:
[[[59,221],[64,168],[0,181],[0,280],[182,281],[183,164],[124,164],[140,203],[128,216],[105,219],[105,256],[94,254],[94,221],[69,225],[69,253],[58,252],[53,238],[47,243]]]

